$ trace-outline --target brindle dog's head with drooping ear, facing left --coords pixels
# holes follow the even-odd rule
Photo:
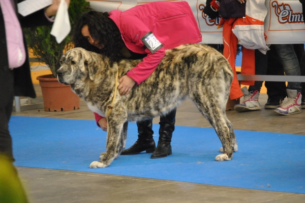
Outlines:
[[[94,80],[99,64],[92,59],[92,55],[82,48],[67,51],[60,58],[60,68],[56,71],[59,83],[74,85],[89,77]]]

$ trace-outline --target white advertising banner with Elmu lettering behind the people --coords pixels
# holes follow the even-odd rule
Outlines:
[[[237,1],[237,0],[232,0]],[[251,0],[248,0],[251,1]],[[154,0],[122,0],[122,1],[88,1],[96,11],[109,12],[112,10],[126,11],[134,6],[156,2]],[[173,1],[172,1],[173,2]],[[203,9],[206,0],[186,1],[192,8],[202,34],[202,43],[222,44],[222,28],[218,29],[220,18],[211,20]],[[276,1],[266,0],[267,16],[264,20],[266,44],[302,44],[305,43],[305,24],[302,5],[298,0]],[[177,25],[179,29],[179,25]]]

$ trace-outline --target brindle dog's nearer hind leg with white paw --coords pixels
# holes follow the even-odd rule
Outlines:
[[[194,95],[194,97],[191,99],[194,101],[202,115],[209,121],[212,127],[214,127],[223,145],[223,154],[217,155],[215,159],[219,161],[231,160],[233,157],[233,149],[230,128],[227,125],[225,109],[218,105],[216,97],[207,98],[204,95],[197,94]],[[230,127],[232,127],[232,125]]]

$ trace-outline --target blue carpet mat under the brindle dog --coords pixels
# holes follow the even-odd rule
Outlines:
[[[154,125],[158,134],[159,125]],[[173,154],[121,155],[108,168],[89,169],[105,151],[106,133],[94,120],[12,116],[15,165],[239,188],[305,193],[305,136],[235,130],[238,152],[215,161],[221,142],[214,129],[176,126]],[[126,147],[137,139],[129,123]],[[155,137],[158,140],[158,136]]]

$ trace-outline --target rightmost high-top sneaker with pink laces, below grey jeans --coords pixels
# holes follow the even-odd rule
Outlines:
[[[277,113],[282,115],[291,115],[295,113],[302,112],[301,109],[301,100],[302,95],[301,93],[297,93],[297,90],[289,90],[287,89],[288,101],[280,106],[279,108],[275,109]]]

